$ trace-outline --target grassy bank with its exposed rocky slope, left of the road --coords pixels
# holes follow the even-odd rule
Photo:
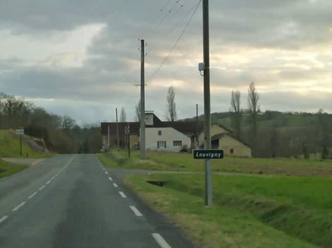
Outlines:
[[[28,157],[42,158],[54,156],[40,142],[34,141],[33,137],[23,135],[22,137],[22,156],[20,156],[20,138],[12,129],[0,129],[0,157]],[[28,145],[29,144],[29,145]]]

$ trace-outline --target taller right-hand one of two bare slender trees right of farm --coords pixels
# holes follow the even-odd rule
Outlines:
[[[260,107],[258,105],[259,95],[255,89],[254,82],[251,82],[248,90],[248,107],[249,107],[249,116],[252,122],[252,137],[253,137],[253,156],[257,156],[257,119],[260,112]]]

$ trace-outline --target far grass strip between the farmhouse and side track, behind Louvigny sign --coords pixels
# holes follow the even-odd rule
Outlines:
[[[111,150],[98,156],[104,160],[106,166],[113,168],[204,172],[204,159],[193,159],[192,154],[157,151],[147,151],[146,154],[145,160],[140,159],[139,151],[131,152],[130,158],[123,150]],[[211,170],[226,173],[332,177],[332,160],[224,157],[211,159]]]

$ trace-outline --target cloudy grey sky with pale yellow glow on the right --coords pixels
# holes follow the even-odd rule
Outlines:
[[[134,120],[140,42],[146,110],[164,119],[168,87],[179,118],[203,113],[198,0],[0,0],[0,91],[79,124]],[[255,82],[263,111],[332,113],[330,0],[210,0],[211,112]],[[162,9],[162,11],[161,11]],[[119,111],[120,112],[120,111]]]

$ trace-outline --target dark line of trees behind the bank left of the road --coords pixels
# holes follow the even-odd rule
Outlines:
[[[67,115],[50,114],[32,102],[0,92],[0,129],[25,127],[58,153],[96,153],[102,147],[100,125],[81,127]]]

